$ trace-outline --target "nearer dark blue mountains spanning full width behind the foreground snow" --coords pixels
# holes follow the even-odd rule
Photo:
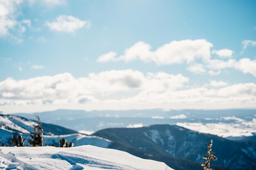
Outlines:
[[[15,115],[0,114],[0,142],[7,144],[13,135],[28,138],[36,121]],[[207,143],[213,139],[213,151],[218,157],[212,162],[216,170],[255,170],[256,142],[246,137],[231,141],[216,135],[195,132],[175,125],[152,125],[141,128],[108,128],[92,135],[43,123],[46,145],[65,137],[75,146],[94,145],[128,152],[144,159],[162,161],[175,170],[200,170]],[[9,143],[10,144],[10,143]]]

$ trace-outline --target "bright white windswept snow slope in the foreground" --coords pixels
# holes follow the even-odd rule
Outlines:
[[[165,163],[127,152],[79,146],[73,148],[0,147],[0,170],[173,170]]]

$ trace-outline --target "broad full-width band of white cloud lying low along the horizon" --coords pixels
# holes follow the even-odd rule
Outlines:
[[[224,109],[255,108],[256,84],[189,87],[180,74],[111,70],[75,78],[70,73],[0,82],[4,112],[66,109]],[[29,107],[28,107],[29,106]]]

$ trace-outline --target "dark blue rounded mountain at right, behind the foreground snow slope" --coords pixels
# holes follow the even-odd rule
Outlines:
[[[150,157],[150,159],[159,160],[161,157],[167,165],[172,164],[174,169],[176,167],[172,157],[196,162],[204,161],[202,157],[206,154],[207,144],[213,139],[213,151],[218,157],[218,160],[212,163],[213,165],[225,166],[233,170],[256,169],[255,143],[230,141],[179,126],[109,128],[100,130],[93,135],[111,140],[112,144],[109,147],[113,149],[124,150],[147,159]],[[144,152],[147,154],[144,155]],[[178,162],[177,164],[176,169],[179,169],[181,166]],[[190,169],[196,169],[192,163],[191,167],[193,168]]]

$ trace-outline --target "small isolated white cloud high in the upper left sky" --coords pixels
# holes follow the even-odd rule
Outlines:
[[[46,22],[46,25],[54,31],[72,33],[81,28],[90,28],[90,21],[82,21],[71,15],[60,15],[55,21]]]

